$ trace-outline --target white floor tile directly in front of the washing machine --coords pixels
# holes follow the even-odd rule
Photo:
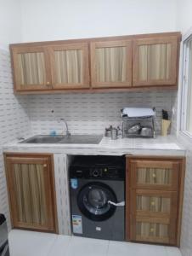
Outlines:
[[[72,236],[67,256],[106,256],[109,241]]]

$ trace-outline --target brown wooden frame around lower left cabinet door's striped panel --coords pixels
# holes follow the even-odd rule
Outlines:
[[[10,208],[11,223],[13,228],[25,230],[39,230],[58,233],[58,219],[56,207],[56,194],[54,184],[54,157],[53,154],[22,154],[5,153],[4,162],[8,185],[8,201]],[[12,165],[14,164],[33,164],[42,165],[44,169],[44,184],[46,190],[46,205],[48,207],[48,223],[46,224],[27,224],[20,222],[16,201],[14,199],[14,179],[12,175]]]

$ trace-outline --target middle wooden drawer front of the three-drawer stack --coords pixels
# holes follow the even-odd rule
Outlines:
[[[176,218],[177,192],[132,189],[131,212],[141,216]]]

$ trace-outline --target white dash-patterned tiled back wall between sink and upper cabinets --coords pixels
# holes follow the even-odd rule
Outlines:
[[[72,133],[104,133],[104,127],[121,125],[121,108],[155,107],[157,133],[161,131],[161,109],[172,114],[175,102],[174,90],[146,92],[37,95],[29,97],[28,113],[33,133],[48,134],[64,131],[65,118]],[[175,123],[173,123],[175,125]]]

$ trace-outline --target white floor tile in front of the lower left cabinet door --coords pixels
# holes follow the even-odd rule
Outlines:
[[[11,256],[48,256],[57,235],[26,230],[11,230],[8,242]]]

